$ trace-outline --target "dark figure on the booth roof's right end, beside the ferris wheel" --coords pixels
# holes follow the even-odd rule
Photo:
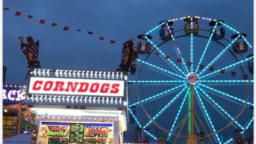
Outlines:
[[[134,61],[133,53],[133,40],[132,38],[130,38],[128,41],[124,43],[121,63],[119,64],[117,71],[125,71],[127,73],[130,73],[131,66]]]

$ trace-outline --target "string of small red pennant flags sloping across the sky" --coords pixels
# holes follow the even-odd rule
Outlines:
[[[41,24],[46,24],[46,20],[45,19],[42,19],[42,18],[35,18],[33,15],[31,14],[27,14],[27,13],[23,13],[23,12],[20,12],[20,11],[17,11],[17,10],[13,10],[13,9],[10,9],[8,7],[5,7],[3,9],[3,11],[13,11],[15,14],[15,16],[21,16],[21,15],[26,15],[28,19],[38,19],[38,22],[41,23]],[[103,37],[103,36],[99,36],[99,35],[95,35],[95,33],[93,31],[84,31],[82,29],[75,29],[73,27],[68,27],[68,26],[65,26],[63,24],[60,24],[60,23],[57,23],[57,22],[50,22],[51,23],[51,26],[52,27],[62,27],[62,29],[64,31],[69,31],[69,30],[74,30],[74,31],[77,31],[77,32],[82,32],[82,33],[87,33],[88,35],[91,35],[91,36],[94,36],[94,37],[97,37],[99,40],[108,40],[110,44],[123,44],[122,42],[120,41],[117,41],[117,40],[114,40],[114,39],[109,39],[109,38],[106,38],[106,37]],[[137,48],[137,47],[134,47],[134,48]],[[159,53],[155,52],[155,55],[159,56]],[[166,59],[170,59],[170,56],[169,55],[166,55],[165,56]],[[183,60],[185,61],[185,60]],[[181,63],[182,60],[180,58],[177,58],[177,63]],[[191,66],[192,65],[192,62],[190,61],[185,61],[187,63],[188,66]],[[195,62],[193,62],[195,64]],[[203,64],[199,64],[199,69],[203,69],[204,65]],[[220,73],[225,73],[225,70],[222,70],[218,67],[213,67],[213,66],[210,66],[209,67],[209,71],[214,71],[214,69],[218,69],[220,70]],[[230,74],[232,77],[235,77],[236,75],[236,72],[234,71],[231,71],[231,74]],[[243,74],[243,79],[248,79],[248,75],[247,74]]]

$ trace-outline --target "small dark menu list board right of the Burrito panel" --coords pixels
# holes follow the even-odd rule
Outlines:
[[[69,142],[83,142],[84,140],[84,124],[71,123]]]

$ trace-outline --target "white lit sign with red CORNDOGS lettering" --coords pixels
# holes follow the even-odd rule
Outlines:
[[[95,75],[95,74],[94,74]],[[93,76],[94,76],[93,75]],[[75,76],[74,76],[75,77]],[[69,96],[104,96],[104,97],[124,97],[125,81],[122,79],[99,79],[98,77],[84,78],[53,78],[53,77],[33,77],[29,78],[29,95],[69,95]],[[95,79],[98,78],[98,79]],[[102,75],[102,78],[103,75]],[[109,78],[109,79],[108,79]]]

